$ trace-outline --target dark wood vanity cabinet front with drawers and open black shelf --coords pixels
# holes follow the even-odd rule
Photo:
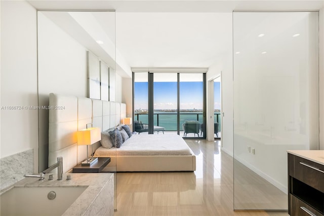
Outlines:
[[[290,215],[324,215],[324,165],[288,154]]]

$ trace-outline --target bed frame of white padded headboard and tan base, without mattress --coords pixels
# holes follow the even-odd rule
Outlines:
[[[87,149],[77,146],[76,131],[86,128],[89,123],[101,131],[114,128],[126,118],[126,104],[85,97],[50,94],[49,110],[49,164],[63,157],[63,171],[70,171],[76,164],[86,159]],[[93,150],[101,146],[100,141]],[[191,151],[191,150],[190,150]],[[101,156],[104,157],[104,156]],[[179,156],[109,156],[110,163],[103,171],[194,171],[196,158],[191,155]]]

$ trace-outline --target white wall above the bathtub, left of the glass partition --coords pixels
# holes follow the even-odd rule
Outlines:
[[[36,10],[27,2],[1,1],[1,158],[34,150],[38,171]]]

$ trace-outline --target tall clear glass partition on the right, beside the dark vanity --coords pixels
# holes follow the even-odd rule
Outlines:
[[[287,209],[287,150],[318,148],[318,13],[233,12],[234,209]]]

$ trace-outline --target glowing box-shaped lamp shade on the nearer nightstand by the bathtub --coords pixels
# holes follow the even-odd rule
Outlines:
[[[101,131],[98,127],[92,127],[77,131],[77,145],[92,145],[101,139]]]

